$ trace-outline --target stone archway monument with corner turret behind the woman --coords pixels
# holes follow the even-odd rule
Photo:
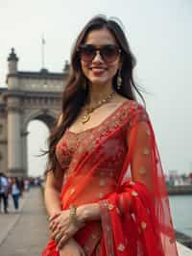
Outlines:
[[[8,88],[0,88],[0,171],[11,176],[26,176],[27,124],[33,119],[49,128],[60,115],[61,92],[68,75],[63,72],[18,71],[18,58],[12,49],[8,58]]]

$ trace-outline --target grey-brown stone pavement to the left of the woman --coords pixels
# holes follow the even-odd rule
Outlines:
[[[42,191],[33,188],[21,198],[18,214],[13,212],[12,204],[9,215],[0,214],[0,255],[38,256],[47,241],[47,218]]]

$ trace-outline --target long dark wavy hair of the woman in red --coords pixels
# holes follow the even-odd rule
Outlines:
[[[47,171],[53,170],[54,172],[56,172],[58,167],[58,160],[56,157],[56,145],[60,141],[60,138],[62,137],[66,128],[69,127],[76,119],[76,117],[80,114],[81,109],[88,98],[88,81],[82,71],[78,48],[80,44],[84,43],[84,40],[89,32],[93,30],[100,30],[103,28],[107,28],[108,31],[110,31],[110,33],[114,36],[122,52],[121,90],[117,90],[117,75],[115,75],[113,78],[113,90],[123,95],[124,97],[132,100],[135,100],[135,92],[137,92],[143,99],[140,91],[135,86],[135,83],[133,81],[132,70],[136,64],[136,61],[132,55],[128,40],[123,30],[121,29],[121,26],[115,19],[107,19],[107,17],[104,15],[97,15],[93,17],[85,25],[83,31],[77,38],[72,50],[69,75],[66,82],[65,90],[62,92],[60,119],[48,139],[49,149],[47,151]]]

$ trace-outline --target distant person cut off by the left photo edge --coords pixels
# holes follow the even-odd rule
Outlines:
[[[0,210],[2,208],[1,202],[3,201],[4,213],[8,214],[8,195],[9,183],[6,175],[0,172]]]

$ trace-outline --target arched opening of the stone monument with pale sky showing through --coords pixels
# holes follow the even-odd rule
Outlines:
[[[32,120],[28,127],[28,175],[42,176],[44,174],[47,155],[38,156],[42,153],[41,149],[47,150],[47,138],[50,131],[48,126],[40,120]]]

